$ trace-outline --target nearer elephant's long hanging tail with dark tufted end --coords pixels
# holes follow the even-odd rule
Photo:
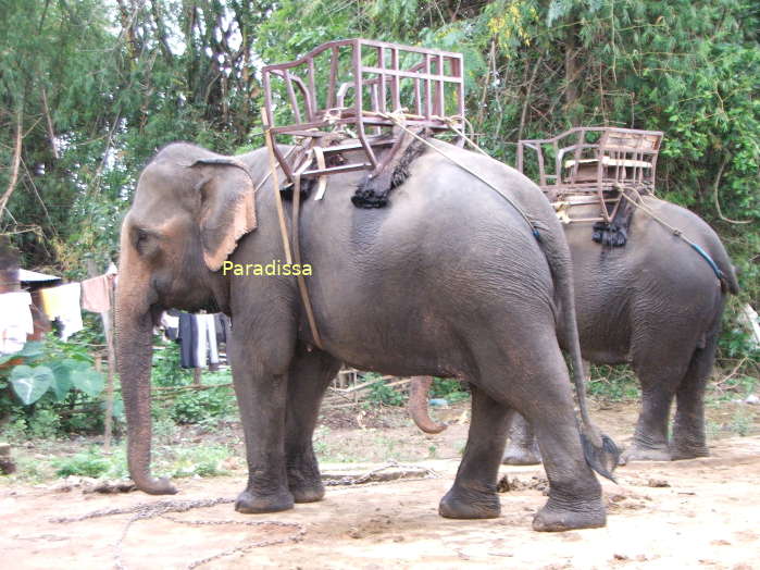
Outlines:
[[[573,292],[573,275],[570,251],[564,243],[564,237],[559,228],[560,236],[556,232],[545,230],[541,232],[541,246],[546,255],[549,269],[555,278],[556,295],[559,300],[561,314],[559,317],[563,330],[560,334],[565,339],[570,359],[573,363],[573,384],[581,412],[581,442],[583,453],[589,467],[600,475],[614,481],[612,472],[618,467],[620,449],[606,434],[594,425],[588,414],[586,401],[586,384],[583,373],[583,359],[581,356],[581,339],[578,337],[577,320],[575,315],[575,295]]]

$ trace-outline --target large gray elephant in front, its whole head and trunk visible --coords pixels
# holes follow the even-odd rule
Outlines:
[[[499,515],[497,471],[509,416],[519,410],[540,435],[550,482],[534,528],[605,524],[556,333],[558,306],[573,323],[568,334],[575,332],[562,228],[516,171],[436,144],[498,181],[535,219],[541,244],[503,199],[432,151],[411,165],[384,209],[351,205],[361,174],[332,177],[325,199],[312,194],[301,214],[302,261],[314,268],[308,286],[324,351],[311,349],[292,277],[217,271],[227,256],[239,263],[284,259],[271,181],[257,195],[258,228],[246,233],[247,199],[267,173],[266,151],[237,157],[250,177],[231,164],[190,165],[225,159],[188,144],[167,146],[146,166],[122,227],[116,299],[128,464],[140,490],[175,492],[150,474],[152,323],[166,308],[207,309],[233,319],[229,349],[249,468],[238,511],[273,512],[323,497],[312,433],[322,396],[346,362],[473,386],[470,435],[440,501],[444,517]]]

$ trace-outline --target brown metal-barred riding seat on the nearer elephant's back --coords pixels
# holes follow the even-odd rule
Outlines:
[[[299,153],[301,160],[312,156],[313,147],[341,157],[363,151],[363,159],[301,169],[301,176],[379,172],[395,149],[385,152],[382,161],[374,149],[396,144],[396,121],[418,132],[464,131],[461,53],[361,38],[336,40],[295,61],[264,66],[262,83],[265,128],[275,141],[282,136],[298,137],[306,149]],[[357,141],[336,142],[328,137],[336,132]],[[292,182],[301,164],[285,160],[276,145],[274,153]]]

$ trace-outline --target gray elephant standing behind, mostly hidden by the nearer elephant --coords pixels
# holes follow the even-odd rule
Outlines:
[[[593,363],[631,364],[640,382],[641,412],[622,462],[703,457],[708,455],[705,388],[726,296],[738,293],[736,273],[720,238],[698,215],[651,195],[641,200],[659,220],[635,209],[624,247],[593,243],[590,223],[564,226],[573,260],[581,350]],[[573,212],[593,218],[598,215],[596,208],[577,206]],[[715,270],[671,228],[699,246]],[[441,431],[444,426],[427,416],[429,379],[414,379],[413,384],[410,412],[415,422],[423,431]],[[514,417],[509,438],[504,463],[540,462],[534,431],[520,416]]]

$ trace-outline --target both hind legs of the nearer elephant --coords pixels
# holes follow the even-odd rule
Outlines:
[[[541,337],[544,338],[544,337]],[[533,350],[521,339],[514,359],[499,352],[478,358],[473,380],[472,423],[453,486],[440,503],[444,517],[487,518],[499,513],[495,492],[511,408],[523,413],[538,437],[549,479],[549,500],[536,515],[537,531],[603,526],[601,486],[581,445],[568,370],[558,346]],[[512,362],[523,363],[516,369]],[[510,379],[506,371],[511,371]]]

